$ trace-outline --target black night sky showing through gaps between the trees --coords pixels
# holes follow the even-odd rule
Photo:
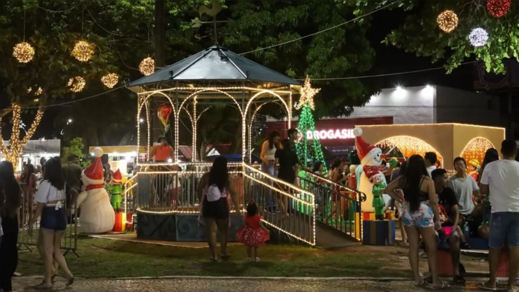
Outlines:
[[[383,40],[392,29],[396,29],[400,25],[400,22],[403,21],[405,17],[405,13],[406,12],[400,9],[394,9],[391,11],[382,10],[374,13],[371,20],[371,28],[368,31],[368,39],[370,39],[372,46],[376,50],[376,62],[372,70],[364,75],[391,74],[414,71],[440,67],[444,64],[442,62],[443,60],[433,64],[431,63],[430,58],[416,57],[414,53],[406,53],[402,49],[380,44],[380,41]],[[388,58],[385,56],[390,57]],[[473,61],[473,59],[467,59],[466,61]],[[474,64],[467,64],[455,69],[455,71],[449,75],[447,75],[445,69],[442,68],[421,73],[365,78],[363,81],[377,82],[377,84],[380,84],[383,88],[395,87],[397,85],[410,87],[430,84],[472,90],[473,77]],[[102,97],[100,96],[98,99],[101,102]],[[3,102],[0,102],[0,106],[7,106],[5,102],[6,99],[2,98],[1,100]],[[33,138],[38,139],[45,137],[49,139],[52,138],[53,135],[56,135],[56,133],[59,131],[54,129],[54,118],[59,112],[66,109],[66,106],[52,107],[47,109],[44,118],[40,123],[40,127],[36,131]],[[29,121],[30,119],[26,120]]]

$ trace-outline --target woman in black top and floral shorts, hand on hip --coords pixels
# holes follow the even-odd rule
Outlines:
[[[409,242],[409,263],[416,285],[427,285],[418,269],[421,235],[426,246],[427,260],[432,274],[432,286],[435,289],[446,287],[438,277],[436,266],[435,231],[441,229],[438,198],[434,182],[427,172],[424,158],[419,155],[409,157],[407,169],[387,186],[385,193],[402,204],[402,224]]]

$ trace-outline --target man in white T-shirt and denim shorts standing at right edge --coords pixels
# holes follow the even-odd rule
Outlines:
[[[515,161],[517,144],[507,139],[501,143],[502,160],[485,166],[481,177],[481,192],[489,196],[490,234],[488,266],[490,280],[480,288],[496,289],[496,271],[501,260],[501,249],[508,238],[508,291],[518,291],[515,275],[519,272],[519,162]]]

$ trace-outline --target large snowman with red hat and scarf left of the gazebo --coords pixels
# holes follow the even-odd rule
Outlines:
[[[95,147],[92,164],[83,171],[85,191],[79,194],[77,205],[81,207],[79,231],[83,233],[104,233],[111,231],[115,224],[115,212],[110,203],[104,182],[101,156],[103,149]]]

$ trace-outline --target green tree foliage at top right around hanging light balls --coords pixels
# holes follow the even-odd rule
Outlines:
[[[372,11],[379,6],[374,1],[357,0],[357,13]],[[398,5],[397,5],[398,4]],[[432,1],[418,5],[419,1],[395,1],[389,8],[409,10],[403,24],[393,30],[383,43],[414,52],[417,56],[430,57],[432,62],[446,59],[447,72],[458,67],[465,58],[475,57],[485,62],[487,72],[504,73],[503,60],[519,60],[519,6],[512,1],[510,11],[501,18],[491,16],[483,0]],[[458,15],[458,27],[444,33],[436,24],[436,17],[444,10],[452,9]],[[475,27],[488,32],[485,46],[470,44],[469,34]]]

